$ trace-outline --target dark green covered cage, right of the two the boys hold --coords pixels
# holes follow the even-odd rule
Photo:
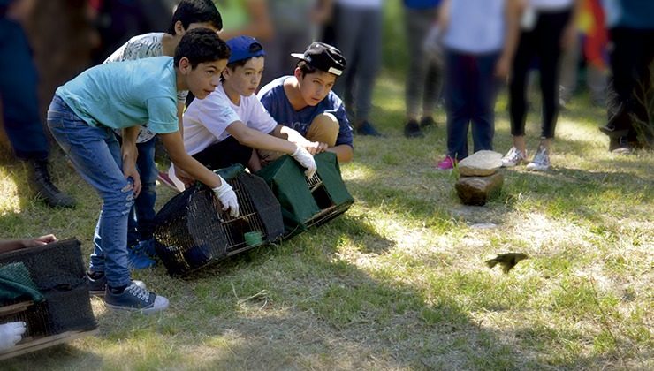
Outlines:
[[[338,160],[331,152],[315,155],[318,170],[308,179],[304,169],[284,155],[258,171],[282,207],[285,238],[309,227],[329,222],[354,203],[340,175]]]

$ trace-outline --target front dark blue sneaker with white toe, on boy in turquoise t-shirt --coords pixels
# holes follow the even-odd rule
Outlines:
[[[109,286],[104,294],[104,304],[111,309],[138,311],[142,314],[153,314],[168,307],[169,301],[163,296],[130,284],[122,293],[113,293]]]

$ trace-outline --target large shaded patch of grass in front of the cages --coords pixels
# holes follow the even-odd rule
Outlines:
[[[116,352],[129,347],[124,351],[143,360],[158,357],[153,365],[166,368],[516,367],[511,348],[480,328],[455,298],[340,259],[338,246],[365,237],[369,226],[355,217],[339,219],[275,248],[234,256],[192,280],[163,276],[162,268],[143,272],[148,287],[167,296],[171,307],[153,316],[104,311],[97,315],[101,332],[95,341]],[[154,284],[148,276],[156,278]],[[447,276],[438,280],[444,283],[435,286],[451,284]],[[140,338],[148,346],[133,348]],[[59,358],[70,358],[71,367],[75,358],[98,362],[96,354],[71,354],[68,348],[45,354],[45,365],[58,365]],[[95,365],[130,362],[105,359]]]

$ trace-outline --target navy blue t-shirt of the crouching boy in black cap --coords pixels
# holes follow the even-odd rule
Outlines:
[[[278,124],[286,125],[298,133],[307,136],[308,126],[322,113],[331,113],[338,119],[338,137],[336,145],[346,144],[354,148],[352,127],[346,117],[346,107],[334,92],[330,92],[323,101],[315,106],[307,106],[301,110],[294,110],[284,91],[285,79],[293,76],[283,76],[274,79],[259,91],[257,95],[263,107],[270,112]]]

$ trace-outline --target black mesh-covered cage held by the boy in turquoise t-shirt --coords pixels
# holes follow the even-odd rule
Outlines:
[[[171,276],[279,239],[281,208],[265,182],[240,173],[226,179],[239,201],[240,216],[222,210],[216,194],[196,185],[168,201],[156,215],[156,253]]]

